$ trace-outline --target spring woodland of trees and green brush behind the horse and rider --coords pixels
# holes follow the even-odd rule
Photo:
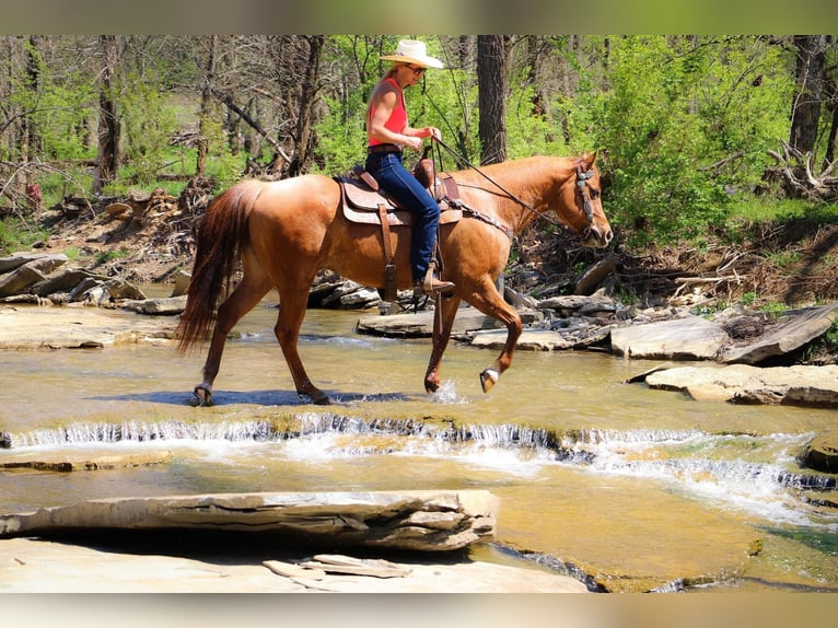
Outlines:
[[[101,210],[195,177],[346,172],[399,38],[0,36],[0,248],[46,240],[68,197]],[[834,36],[419,38],[445,69],[408,90],[410,124],[469,163],[597,151],[624,300],[684,274],[728,303],[838,298]],[[591,261],[551,259],[552,231],[535,224],[511,261]]]

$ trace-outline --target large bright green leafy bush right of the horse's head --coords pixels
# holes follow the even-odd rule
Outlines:
[[[748,37],[612,43],[597,128],[613,175],[610,214],[635,243],[675,242],[723,224],[732,194],[761,175],[787,116],[777,103],[788,95],[777,69],[753,86],[775,68],[776,53],[766,48]],[[743,159],[725,168],[734,153]]]

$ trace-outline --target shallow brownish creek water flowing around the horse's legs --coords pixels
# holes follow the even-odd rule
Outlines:
[[[798,465],[838,412],[695,402],[626,383],[655,363],[593,352],[519,351],[485,395],[478,373],[496,351],[453,341],[428,396],[430,340],[361,336],[358,317],[306,315],[301,354],[331,406],[296,397],[270,298],[228,342],[212,407],[189,405],[206,347],[0,352],[0,431],[13,445],[0,461],[172,454],[123,469],[0,472],[0,512],[104,497],[480,488],[501,498],[481,559],[524,556],[616,591],[838,591],[836,478]]]

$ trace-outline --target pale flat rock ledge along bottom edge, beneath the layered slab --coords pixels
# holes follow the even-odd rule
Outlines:
[[[580,581],[492,562],[397,562],[400,578],[277,573],[276,554],[259,559],[120,553],[84,545],[0,540],[3,593],[584,593]],[[288,562],[283,560],[282,562]],[[267,563],[267,565],[265,565]],[[302,570],[301,570],[302,571]]]

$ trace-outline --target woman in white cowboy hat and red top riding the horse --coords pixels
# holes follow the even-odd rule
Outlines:
[[[415,129],[408,125],[404,94],[405,88],[419,82],[427,68],[442,68],[442,61],[429,57],[424,44],[412,39],[403,39],[395,55],[381,58],[393,65],[370,96],[365,167],[384,191],[414,213],[410,248],[414,291],[450,294],[454,291],[451,281],[441,281],[428,274],[440,206],[401,164],[404,147],[418,151],[422,148],[422,138],[442,139],[437,127]]]

